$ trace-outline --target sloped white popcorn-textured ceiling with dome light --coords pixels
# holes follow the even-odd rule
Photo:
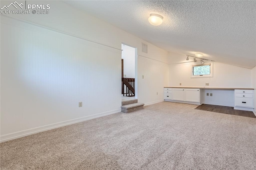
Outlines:
[[[256,65],[256,1],[65,1],[167,51]],[[152,26],[151,13],[164,17]],[[181,56],[181,55],[179,55]]]

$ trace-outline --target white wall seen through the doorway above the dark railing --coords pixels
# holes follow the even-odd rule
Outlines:
[[[135,78],[135,48],[122,44],[124,59],[124,77]]]

